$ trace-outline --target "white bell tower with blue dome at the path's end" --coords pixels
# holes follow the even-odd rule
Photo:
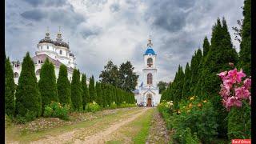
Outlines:
[[[143,106],[158,106],[161,94],[159,94],[157,82],[157,54],[154,53],[152,48],[153,43],[151,39],[147,44],[147,50],[144,57],[144,68],[142,69],[142,82],[139,84],[138,89],[134,90],[137,105]]]

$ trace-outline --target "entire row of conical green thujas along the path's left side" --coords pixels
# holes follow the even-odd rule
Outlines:
[[[51,102],[60,102],[70,105],[73,110],[84,110],[86,104],[97,102],[100,106],[110,106],[112,102],[134,103],[132,93],[121,90],[108,84],[94,83],[94,76],[90,78],[89,86],[86,85],[86,74],[74,69],[72,82],[68,80],[67,68],[61,65],[58,79],[54,72],[54,65],[46,58],[40,71],[40,79],[34,73],[34,62],[30,54],[26,53],[22,62],[22,71],[15,89],[14,73],[10,59],[5,58],[5,112],[14,117],[33,120],[43,114],[44,107]]]

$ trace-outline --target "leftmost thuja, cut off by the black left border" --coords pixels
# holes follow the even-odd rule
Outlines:
[[[5,113],[10,116],[14,116],[15,112],[14,93],[14,71],[10,59],[5,58]]]

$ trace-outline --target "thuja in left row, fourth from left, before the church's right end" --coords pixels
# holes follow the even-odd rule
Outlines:
[[[65,65],[61,65],[59,68],[57,90],[59,102],[63,105],[72,106],[70,81],[67,78],[67,70]]]

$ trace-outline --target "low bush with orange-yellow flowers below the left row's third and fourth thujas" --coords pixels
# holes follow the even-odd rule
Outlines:
[[[50,105],[45,106],[45,111],[43,116],[50,118],[61,118],[67,120],[68,113],[70,111],[69,105],[62,106],[59,102],[51,102]]]

